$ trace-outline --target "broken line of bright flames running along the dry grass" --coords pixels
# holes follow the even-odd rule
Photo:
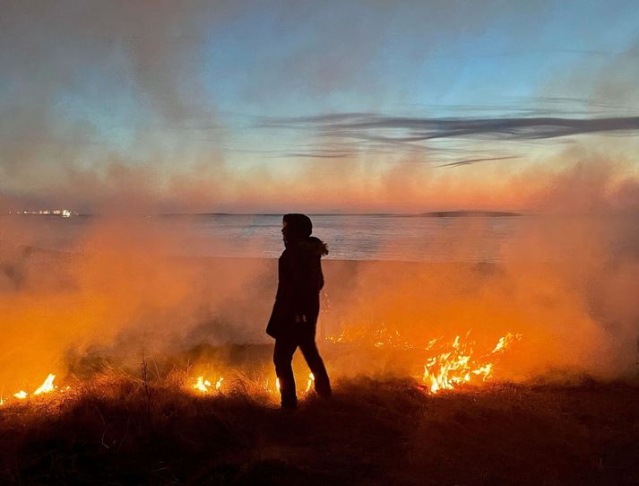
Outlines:
[[[374,334],[376,348],[389,345],[400,349],[415,349],[410,343],[403,341],[397,332],[387,333],[383,329],[382,331],[377,330]],[[480,386],[493,377],[499,356],[508,351],[513,343],[522,340],[522,334],[507,333],[499,338],[492,351],[478,355],[475,352],[475,341],[469,339],[470,334],[471,332],[469,331],[463,339],[460,335],[456,335],[452,343],[445,343],[442,338],[435,338],[427,343],[423,351],[429,352],[431,356],[427,357],[426,364],[423,365],[423,374],[417,377],[423,383],[423,385],[418,385],[420,390],[428,394],[437,394],[444,390],[459,389],[462,386]],[[361,339],[361,335],[354,337],[345,332],[327,337],[327,341],[333,345],[353,343],[358,339]],[[439,348],[439,351],[434,352],[437,348]],[[225,378],[221,375],[213,376],[217,376],[217,378],[209,379],[206,374],[199,375],[196,378],[187,378],[187,381],[191,384],[182,386],[182,388],[190,390],[197,395],[223,394]],[[71,386],[63,388],[56,386],[54,384],[55,379],[56,375],[50,373],[42,385],[32,393],[20,390],[12,395],[13,399],[0,395],[0,406],[23,403],[30,397],[38,397],[39,400],[33,401],[33,404],[41,404],[44,402],[44,395],[64,395],[71,390]],[[303,382],[303,380],[299,381],[299,383]],[[306,380],[306,386],[299,391],[303,395],[311,394],[314,382],[315,377],[313,373],[310,373]],[[279,378],[275,379],[274,387],[270,383],[272,383],[270,378],[266,378],[259,388],[267,395],[271,395],[273,401],[276,401],[280,391],[280,380]]]

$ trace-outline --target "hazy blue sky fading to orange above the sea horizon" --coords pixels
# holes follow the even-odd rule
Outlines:
[[[639,175],[635,0],[0,1],[2,211],[522,209]]]

